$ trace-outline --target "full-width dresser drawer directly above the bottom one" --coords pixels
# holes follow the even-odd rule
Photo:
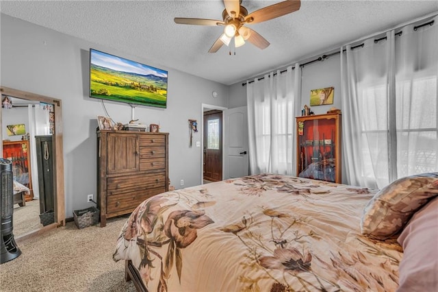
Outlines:
[[[123,175],[107,179],[108,194],[124,191],[129,188],[157,188],[166,186],[166,173],[148,173],[138,175]]]

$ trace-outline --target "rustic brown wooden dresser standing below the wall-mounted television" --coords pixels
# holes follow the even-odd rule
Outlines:
[[[168,133],[97,131],[97,208],[107,218],[168,191]]]

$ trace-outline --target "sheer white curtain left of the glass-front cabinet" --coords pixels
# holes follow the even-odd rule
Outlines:
[[[294,175],[300,65],[247,82],[250,173]]]

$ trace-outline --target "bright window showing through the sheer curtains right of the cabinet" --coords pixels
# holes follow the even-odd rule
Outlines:
[[[424,74],[424,73],[423,73]],[[437,77],[416,72],[415,77],[396,78],[396,161],[389,161],[387,86],[360,84],[362,89],[363,178],[375,178],[379,186],[389,183],[388,169],[397,177],[436,171]]]

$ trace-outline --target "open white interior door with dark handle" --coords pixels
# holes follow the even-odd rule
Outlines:
[[[224,180],[249,174],[246,106],[224,110]]]

